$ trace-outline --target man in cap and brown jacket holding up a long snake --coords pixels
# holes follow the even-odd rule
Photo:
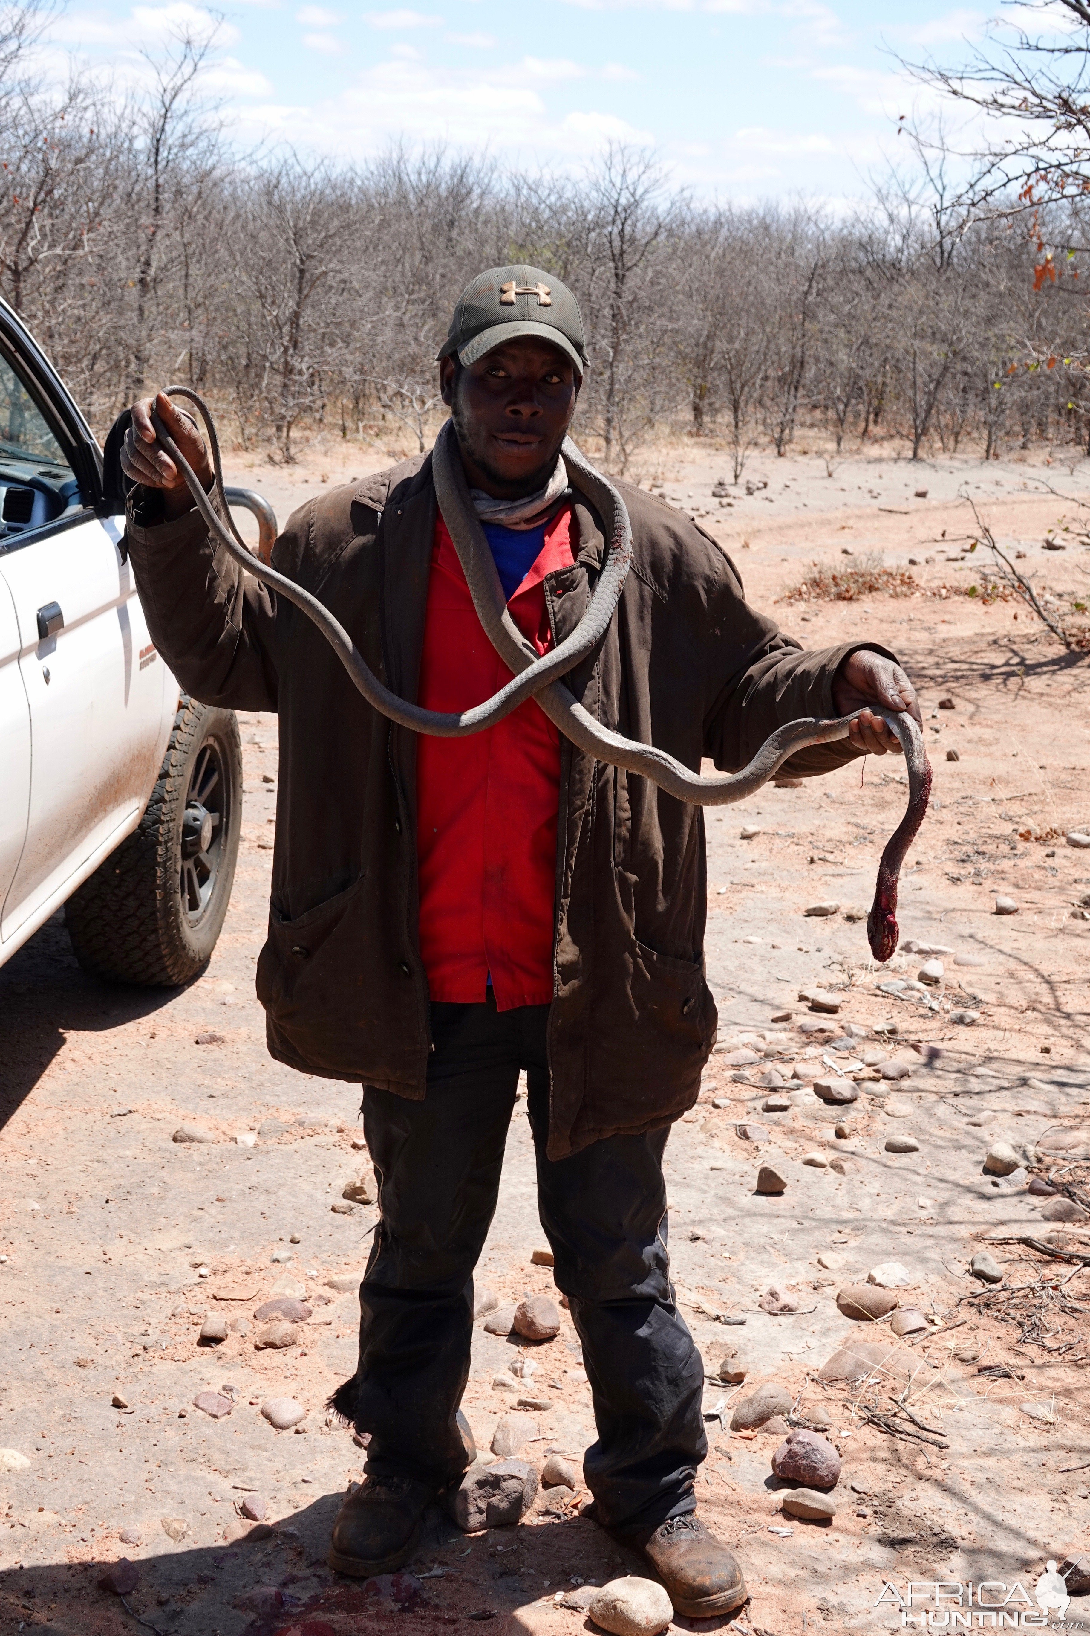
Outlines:
[[[585,366],[574,296],[529,267],[476,278],[440,353],[472,504],[539,653],[577,625],[603,556],[601,519],[557,458]],[[208,483],[193,424],[165,398],[157,409]],[[150,399],[132,409],[123,466],[141,597],[181,685],[279,713],[257,977],[270,1050],[364,1086],[381,1222],[360,1363],[333,1402],[371,1441],[330,1561],[360,1575],[407,1561],[422,1513],[472,1459],[458,1414],[472,1271],[526,1070],[541,1222],[593,1391],[593,1515],[642,1553],[678,1613],[739,1607],[739,1566],[696,1517],[703,1364],[673,1301],[662,1180],[670,1122],[695,1103],[716,1036],[701,810],[579,753],[533,700],[464,739],[392,728],[314,627],[209,540]],[[891,654],[802,653],[745,604],[701,528],[621,492],[632,568],[606,636],[567,676],[600,721],[690,767],[737,767],[797,717],[918,717]],[[508,681],[436,510],[430,455],[301,507],[273,564],[404,699],[462,710]],[[791,767],[897,748],[864,713],[850,743]]]

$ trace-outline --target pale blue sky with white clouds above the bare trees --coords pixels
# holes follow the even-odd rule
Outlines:
[[[230,129],[342,160],[448,142],[533,172],[618,139],[698,196],[842,201],[907,157],[897,118],[928,113],[897,57],[964,61],[989,20],[941,0],[417,3],[224,0],[209,88]],[[185,26],[209,13],[69,0],[52,49],[139,75],[141,47]]]

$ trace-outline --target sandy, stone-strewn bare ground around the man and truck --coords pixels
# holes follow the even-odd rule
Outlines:
[[[335,483],[381,463],[376,452],[335,461],[317,450],[294,471],[235,458],[229,478],[263,488],[284,517],[322,474]],[[1090,1234],[1057,1219],[1080,1216],[1070,1198],[1026,1186],[1064,1170],[1059,1181],[1085,1198],[1090,1178],[1090,919],[1080,916],[1090,851],[1065,839],[1090,828],[1088,677],[1085,654],[1065,653],[1016,604],[964,596],[981,584],[982,550],[963,560],[974,524],[959,494],[972,494],[1002,545],[1026,553],[1018,566],[1043,594],[1048,586],[1069,607],[1087,587],[1090,555],[1062,532],[1077,507],[1041,483],[1067,496],[1087,486],[1044,460],[912,466],[874,455],[829,476],[822,458],[799,453],[753,456],[721,506],[711,489],[727,465],[714,452],[652,452],[637,474],[665,481],[735,558],[750,597],[807,646],[866,635],[896,651],[920,687],[935,762],[900,911],[902,939],[948,951],[940,987],[923,993],[907,985],[925,955],[900,952],[876,970],[851,918],[869,903],[904,808],[892,757],[709,815],[719,1049],[667,1166],[681,1310],[709,1374],[729,1345],[748,1369],[740,1387],[708,1382],[711,1454],[698,1482],[701,1512],[737,1546],[752,1590],[730,1623],[757,1636],[817,1623],[896,1628],[891,1597],[874,1603],[886,1584],[904,1592],[909,1580],[1021,1580],[1031,1590],[1049,1557],[1090,1548],[1088,1302],[1077,1260],[1090,1255]],[[1065,551],[1043,548],[1049,532]],[[781,600],[814,563],[850,568],[845,551],[881,555],[912,573],[917,591]],[[940,712],[945,697],[953,708]],[[358,1093],[265,1055],[253,965],[276,721],[245,717],[242,730],[239,875],[198,983],[181,993],[98,985],[75,967],[59,919],[0,970],[0,1448],[29,1461],[0,1476],[0,1631],[588,1628],[557,1597],[574,1579],[603,1582],[634,1564],[579,1517],[579,1499],[546,1505],[543,1494],[518,1530],[472,1538],[436,1512],[413,1562],[428,1577],[402,1611],[325,1567],[332,1517],[363,1459],[322,1407],[356,1346],[356,1297],[337,1281],[358,1278],[374,1209],[330,1209],[368,1168],[353,1148]],[[742,838],[744,825],[758,833]],[[997,916],[997,895],[1018,913]],[[804,913],[825,901],[838,911]],[[879,987],[891,980],[905,987]],[[809,1009],[801,991],[814,987],[833,996],[835,1014]],[[977,1021],[954,1021],[964,1013]],[[208,1034],[216,1042],[196,1044]],[[904,1063],[907,1076],[863,1078],[837,1135],[838,1111],[809,1085],[868,1072],[850,1067],[868,1055]],[[802,1085],[781,1096],[783,1109],[763,1108],[775,1096],[762,1083],[770,1065],[781,1080],[793,1065]],[[266,1121],[279,1132],[266,1124],[255,1147],[235,1142]],[[214,1140],[173,1144],[181,1122]],[[918,1147],[891,1152],[886,1144],[904,1135]],[[1010,1181],[984,1170],[998,1137],[1028,1160]],[[788,1181],[780,1198],[755,1193],[770,1153]],[[1012,1242],[1020,1235],[1046,1248]],[[549,1270],[531,1265],[543,1242],[518,1114],[480,1283],[505,1299],[546,1292]],[[1005,1270],[1000,1286],[969,1276],[985,1245]],[[928,1319],[915,1338],[896,1340],[887,1322],[855,1324],[835,1302],[891,1260],[910,1279],[902,1307]],[[314,1317],[296,1346],[257,1351],[252,1314],[284,1281],[307,1292]],[[770,1288],[794,1310],[763,1310]],[[235,1325],[217,1348],[198,1345],[209,1312]],[[830,1355],[860,1338],[886,1343],[878,1371],[855,1386],[822,1382]],[[593,1417],[567,1314],[541,1346],[477,1325],[464,1407],[479,1446],[515,1405],[492,1382],[515,1379],[518,1358],[534,1366],[520,1387],[547,1404],[533,1412],[528,1458],[579,1456]],[[784,1386],[794,1418],[825,1425],[842,1451],[832,1523],[781,1512],[770,1458],[783,1432],[729,1428],[734,1402],[763,1382]],[[194,1409],[204,1389],[224,1389],[230,1415]],[[261,1420],[268,1396],[304,1404],[296,1432]],[[894,1410],[899,1399],[915,1420]],[[886,1428],[869,1418],[879,1410],[894,1412]],[[273,1523],[260,1538],[239,1517],[247,1494],[265,1499]],[[136,1543],[123,1543],[123,1530]],[[131,1615],[96,1589],[119,1556],[141,1574]],[[266,1613],[253,1602],[260,1587]],[[1069,1618],[1079,1616],[1090,1620],[1085,1597],[1070,1605]]]

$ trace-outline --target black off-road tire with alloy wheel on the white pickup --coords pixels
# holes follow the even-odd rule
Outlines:
[[[159,987],[198,977],[224,924],[240,829],[235,713],[183,694],[141,823],[64,906],[83,970]]]

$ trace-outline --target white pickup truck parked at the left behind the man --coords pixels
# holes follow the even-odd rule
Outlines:
[[[87,420],[0,303],[0,965],[64,905],[85,970],[186,983],[230,898],[239,723],[180,694],[109,512]]]

